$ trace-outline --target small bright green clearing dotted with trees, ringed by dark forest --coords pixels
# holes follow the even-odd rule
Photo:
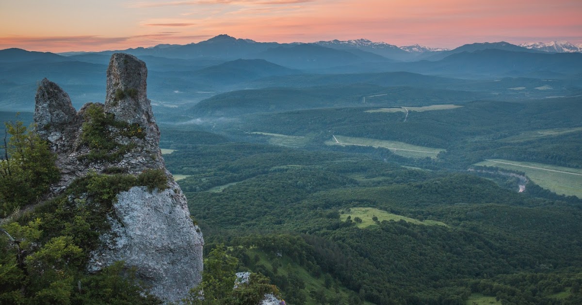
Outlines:
[[[376,223],[374,223],[374,220],[372,220],[372,218],[374,216],[378,217],[378,221],[380,221],[380,222],[382,222],[382,220],[386,220],[386,221],[404,220],[407,223],[411,223],[411,224],[443,225],[445,227],[448,227],[448,225],[446,225],[445,223],[441,223],[440,221],[436,221],[436,220],[420,221],[420,220],[417,220],[414,218],[404,217],[404,216],[388,213],[387,211],[374,209],[373,207],[352,207],[352,208],[350,208],[349,211],[347,211],[347,210],[340,211],[340,218],[342,219],[342,221],[346,221],[348,216],[350,216],[352,221],[354,221],[354,218],[356,218],[356,217],[359,217],[362,220],[361,223],[357,224],[358,228],[367,228],[367,227],[371,227],[373,225],[376,225]]]

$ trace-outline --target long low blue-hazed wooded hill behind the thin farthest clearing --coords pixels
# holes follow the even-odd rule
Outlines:
[[[432,105],[482,98],[478,92],[370,84],[328,85],[307,88],[264,88],[226,92],[194,105],[194,116],[222,117],[247,113],[274,113],[321,107],[389,106],[401,103]]]

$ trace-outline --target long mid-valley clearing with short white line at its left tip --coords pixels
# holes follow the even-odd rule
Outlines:
[[[438,153],[445,151],[445,149],[441,148],[417,146],[404,142],[386,141],[370,138],[345,137],[343,135],[333,135],[332,141],[325,141],[325,144],[372,146],[376,148],[381,147],[392,150],[396,155],[417,159],[423,159],[425,157],[435,159]]]

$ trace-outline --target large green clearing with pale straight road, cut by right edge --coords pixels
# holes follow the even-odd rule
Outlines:
[[[549,189],[560,195],[574,195],[578,198],[582,198],[582,169],[580,168],[502,159],[485,160],[483,162],[475,163],[474,165],[494,166],[506,168],[508,170],[523,171],[531,181],[540,185],[542,188]]]

